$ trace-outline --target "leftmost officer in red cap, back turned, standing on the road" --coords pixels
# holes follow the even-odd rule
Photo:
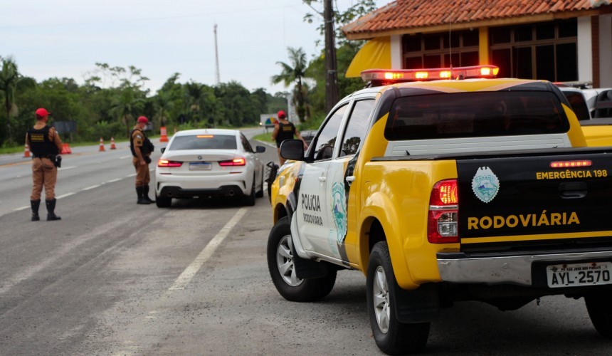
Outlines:
[[[41,192],[45,187],[45,204],[47,206],[47,221],[60,220],[56,209],[56,182],[58,167],[56,157],[62,150],[62,142],[56,129],[47,125],[49,112],[40,108],[36,110],[36,125],[26,133],[26,143],[32,152],[32,221],[38,221],[38,207],[41,206]]]

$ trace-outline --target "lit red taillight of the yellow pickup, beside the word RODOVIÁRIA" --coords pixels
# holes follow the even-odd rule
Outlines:
[[[431,244],[458,243],[458,213],[457,179],[446,179],[434,184],[429,197],[427,240]]]

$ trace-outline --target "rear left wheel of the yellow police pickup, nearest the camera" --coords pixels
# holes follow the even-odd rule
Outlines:
[[[396,318],[396,283],[386,241],[374,245],[366,278],[370,326],[379,349],[389,355],[411,354],[427,345],[431,323],[403,324]]]

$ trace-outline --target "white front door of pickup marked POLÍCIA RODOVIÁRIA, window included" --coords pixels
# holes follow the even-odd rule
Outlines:
[[[347,112],[347,105],[335,110],[324,122],[319,135],[312,141],[314,147],[308,151],[312,162],[304,162],[304,171],[297,197],[297,231],[302,246],[307,251],[330,251],[327,236],[329,235],[329,204],[327,204],[327,169],[332,162],[336,147],[338,131]]]

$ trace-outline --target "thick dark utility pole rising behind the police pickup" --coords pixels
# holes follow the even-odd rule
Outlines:
[[[332,0],[325,0],[323,17],[325,19],[325,107],[329,112],[338,103],[338,70]]]

